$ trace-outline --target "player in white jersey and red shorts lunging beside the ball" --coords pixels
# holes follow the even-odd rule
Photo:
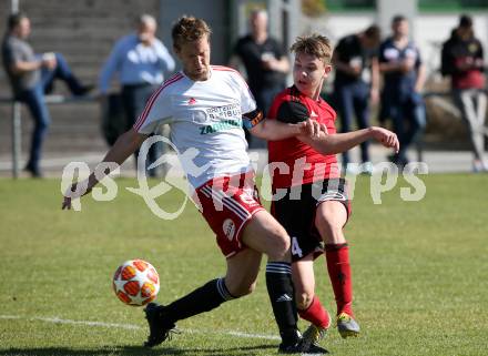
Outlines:
[[[134,126],[121,135],[103,160],[122,164],[157,125],[170,124],[171,139],[180,152],[199,152],[191,164],[184,160],[182,164],[195,189],[202,215],[226,257],[224,277],[210,281],[166,306],[148,305],[144,312],[150,335],[145,346],[164,342],[177,321],[250,294],[264,253],[268,258],[267,292],[282,337],[278,352],[325,354],[319,346],[306,346],[297,329],[291,240],[258,201],[242,123],[244,120],[252,134],[266,140],[316,136],[326,128],[313,120],[299,124],[264,120],[240,74],[210,65],[210,33],[209,26],[193,17],[183,17],[174,24],[173,49],[183,64],[182,72],[153,94]],[[192,166],[205,167],[204,173],[195,174]],[[96,183],[92,173],[84,194]],[[71,197],[67,196],[63,208],[70,207]]]

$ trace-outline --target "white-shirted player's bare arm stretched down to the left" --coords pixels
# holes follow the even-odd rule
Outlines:
[[[115,141],[115,144],[110,149],[110,151],[106,153],[105,157],[102,160],[102,162],[114,162],[118,165],[121,165],[129,156],[131,156],[144,142],[144,140],[148,138],[145,134],[138,133],[134,129],[129,130],[128,132],[120,135],[120,138]],[[110,174],[110,171],[106,170],[103,172],[104,175]],[[101,180],[101,177],[100,177]],[[87,191],[83,192],[83,195],[91,192],[92,187],[99,183],[99,180],[96,179],[94,172],[90,174],[88,177],[88,185]],[[77,191],[77,184],[74,183],[70,190],[72,192]],[[62,210],[70,210],[71,208],[71,200],[73,196],[68,196],[69,194],[64,194],[63,203],[62,203]]]

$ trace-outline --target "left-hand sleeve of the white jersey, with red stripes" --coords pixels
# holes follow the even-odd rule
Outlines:
[[[134,130],[139,133],[151,134],[159,125],[171,123],[172,119],[170,95],[161,88],[148,101],[134,124]]]

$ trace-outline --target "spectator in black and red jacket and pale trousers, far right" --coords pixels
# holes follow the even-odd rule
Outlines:
[[[481,42],[475,38],[472,20],[461,16],[459,26],[443,44],[443,75],[451,79],[453,95],[471,136],[472,170],[488,171],[485,161],[485,92],[484,53]]]

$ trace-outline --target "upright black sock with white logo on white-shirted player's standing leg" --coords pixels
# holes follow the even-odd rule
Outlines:
[[[291,264],[268,262],[266,265],[266,286],[283,344],[295,344],[298,338],[296,327],[298,317]]]

